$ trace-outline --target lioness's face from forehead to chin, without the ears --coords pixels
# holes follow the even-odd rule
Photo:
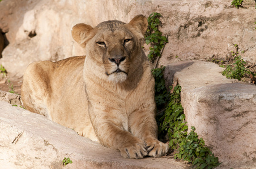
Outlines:
[[[124,23],[108,21],[96,28],[98,32],[92,38],[98,63],[103,63],[109,81],[121,83],[129,74],[130,62],[138,50],[134,35]]]

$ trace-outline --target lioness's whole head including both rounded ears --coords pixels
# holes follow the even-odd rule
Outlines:
[[[95,28],[76,24],[72,37],[86,49],[86,56],[94,60],[109,81],[122,83],[134,73],[136,62],[142,57],[141,42],[147,30],[147,19],[135,16],[129,24],[105,21]]]

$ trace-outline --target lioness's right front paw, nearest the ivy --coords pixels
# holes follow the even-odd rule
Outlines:
[[[148,155],[151,157],[161,157],[162,155],[165,155],[169,150],[169,145],[164,144],[159,140],[152,139],[150,141],[147,141],[147,151]]]

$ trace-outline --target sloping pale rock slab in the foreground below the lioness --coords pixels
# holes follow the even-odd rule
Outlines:
[[[0,101],[1,168],[187,168],[173,158],[125,159],[42,115]]]

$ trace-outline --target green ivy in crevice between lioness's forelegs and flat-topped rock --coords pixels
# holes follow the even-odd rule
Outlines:
[[[219,159],[207,148],[202,138],[198,139],[195,127],[187,134],[188,127],[185,122],[184,109],[181,105],[181,86],[174,87],[173,94],[160,118],[159,131],[161,134],[167,132],[169,145],[172,149],[178,149],[174,158],[184,159],[193,164],[195,168],[214,168],[219,166]]]

